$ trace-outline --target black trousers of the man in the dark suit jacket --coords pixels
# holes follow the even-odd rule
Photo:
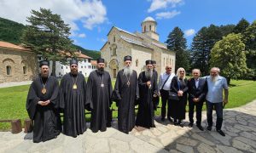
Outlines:
[[[196,125],[201,125],[201,109],[203,101],[194,102],[189,99],[189,122],[194,122],[194,110],[196,111]]]

